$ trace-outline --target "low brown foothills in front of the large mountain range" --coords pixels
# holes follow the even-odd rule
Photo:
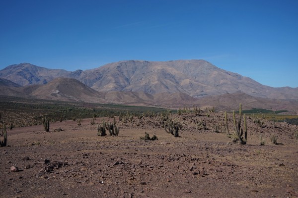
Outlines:
[[[97,92],[78,80],[56,78],[46,85],[30,85],[23,87],[0,86],[0,95],[32,99],[51,99],[61,101],[79,101],[93,103],[118,103],[141,106],[161,106],[165,108],[191,107],[201,108],[216,106],[218,110],[237,109],[243,103],[243,109],[264,108],[271,110],[288,110],[298,113],[298,101],[266,99],[252,97],[244,93],[207,96],[195,99],[185,93],[157,93],[112,91]]]

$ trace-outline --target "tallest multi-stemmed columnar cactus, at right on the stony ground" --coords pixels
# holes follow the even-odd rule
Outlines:
[[[238,141],[242,144],[245,145],[247,142],[247,128],[246,128],[246,118],[244,115],[244,138],[242,137],[243,135],[243,129],[241,127],[241,120],[242,120],[242,105],[241,103],[239,104],[239,119],[238,123],[236,123],[236,116],[235,116],[235,111],[233,111],[233,121],[234,121],[234,127],[235,127],[235,133]]]

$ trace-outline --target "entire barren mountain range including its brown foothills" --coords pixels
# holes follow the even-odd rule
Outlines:
[[[264,86],[205,60],[129,60],[73,72],[21,63],[0,70],[0,89],[7,96],[162,106],[210,105],[229,95],[262,100],[254,107],[298,100],[298,88]]]

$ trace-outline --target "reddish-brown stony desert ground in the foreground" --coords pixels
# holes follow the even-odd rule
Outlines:
[[[43,125],[7,129],[8,146],[0,148],[0,197],[298,197],[297,126],[263,120],[261,127],[248,117],[247,144],[241,145],[214,131],[224,124],[223,112],[176,118],[177,138],[165,132],[158,116],[126,123],[116,117],[118,137],[97,136],[90,119],[80,126],[50,122],[50,132]],[[198,127],[202,120],[207,130]],[[231,114],[228,127],[234,131]],[[140,139],[145,132],[158,140]],[[271,143],[272,135],[278,145]]]

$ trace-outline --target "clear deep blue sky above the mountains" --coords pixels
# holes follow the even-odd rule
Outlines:
[[[205,59],[298,87],[298,0],[0,0],[0,69]]]

